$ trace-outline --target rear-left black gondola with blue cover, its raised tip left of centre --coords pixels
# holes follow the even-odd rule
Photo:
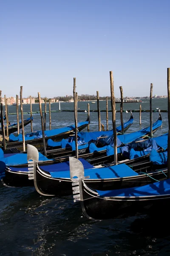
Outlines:
[[[78,123],[78,130],[82,131],[87,125],[90,123],[90,116],[88,116],[85,122]],[[68,127],[53,129],[49,131],[45,131],[45,143],[47,144],[47,140],[51,138],[54,141],[60,141],[63,138],[69,137],[69,135],[73,134],[75,130],[75,125],[70,125]],[[20,151],[23,151],[23,141],[22,134],[19,134],[15,137],[13,134],[10,134],[9,141],[6,142],[6,148],[18,148]],[[31,143],[31,145],[35,145],[38,148],[43,148],[42,141],[42,131],[33,132],[31,134],[26,134],[25,136],[25,145],[27,148],[27,144]],[[0,143],[0,146],[3,147],[3,143]]]

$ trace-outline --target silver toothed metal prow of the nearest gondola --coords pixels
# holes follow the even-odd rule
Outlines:
[[[84,213],[85,217],[87,217],[88,219],[93,219],[85,211],[84,200],[83,200],[84,179],[88,179],[90,178],[90,176],[84,177],[85,175],[84,167],[77,158],[69,157],[69,165],[70,165],[70,178],[72,180],[74,203],[80,201],[82,212]]]

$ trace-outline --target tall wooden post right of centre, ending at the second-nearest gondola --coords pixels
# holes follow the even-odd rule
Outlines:
[[[116,105],[114,97],[114,85],[113,85],[113,71],[110,71],[110,83],[111,83],[111,108],[112,108],[112,123],[113,123],[113,136],[114,136],[114,164],[117,165],[117,134],[116,134]]]

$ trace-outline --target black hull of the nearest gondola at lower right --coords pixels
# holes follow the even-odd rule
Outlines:
[[[99,220],[122,218],[136,214],[150,214],[160,218],[164,216],[163,209],[166,209],[170,203],[170,195],[153,196],[153,198],[147,196],[129,199],[98,198],[87,194],[84,189],[83,199],[81,206],[85,216]]]

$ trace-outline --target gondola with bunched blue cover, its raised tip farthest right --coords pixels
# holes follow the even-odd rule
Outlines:
[[[159,113],[159,118],[158,120],[153,123],[153,134],[161,127],[162,125],[162,118],[161,114]],[[79,157],[85,158],[85,159],[90,159],[93,160],[94,158],[102,158],[106,156],[106,150],[107,150],[107,145],[113,145],[113,134],[110,136],[105,136],[105,132],[103,135],[96,135],[98,132],[92,133],[84,133],[82,137],[83,141],[85,140],[85,144],[82,143],[81,139],[79,140],[80,145],[78,145],[78,151],[79,151]],[[87,139],[85,136],[87,135]],[[131,143],[136,139],[139,138],[148,138],[150,135],[150,126],[147,128],[144,128],[140,131],[136,131],[130,134],[123,134],[123,135],[118,135],[117,140],[119,140],[119,143],[117,143],[118,146],[125,145],[127,143]],[[90,137],[90,138],[89,138]],[[95,141],[95,145],[93,144],[93,140],[98,137],[98,140]],[[102,139],[101,137],[106,137]],[[64,140],[63,140],[64,141]],[[64,148],[59,148],[57,150],[48,150],[47,151],[47,157],[50,159],[56,159],[58,160],[58,163],[68,161],[68,157],[70,156],[75,156],[75,142],[72,141],[72,143],[69,143],[67,147],[67,142],[68,140],[65,141],[64,143]],[[97,146],[96,146],[97,145]],[[106,161],[108,160],[111,161],[111,157],[106,157]],[[97,162],[98,163],[98,159]],[[57,162],[56,162],[57,163]],[[95,160],[93,161],[93,164],[95,164]]]

